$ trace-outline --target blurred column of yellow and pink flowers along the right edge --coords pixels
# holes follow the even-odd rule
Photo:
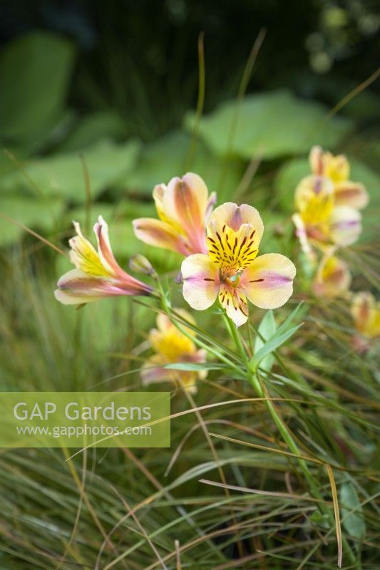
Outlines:
[[[314,294],[334,299],[351,299],[351,316],[358,335],[354,346],[364,351],[369,340],[380,336],[380,309],[374,297],[362,291],[353,294],[351,273],[337,251],[354,244],[361,233],[361,214],[369,197],[361,182],[350,180],[349,161],[321,147],[309,154],[312,174],[304,177],[295,191],[297,212],[292,219],[302,251],[315,271]]]

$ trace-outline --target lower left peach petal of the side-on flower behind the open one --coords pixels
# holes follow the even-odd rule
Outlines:
[[[167,222],[154,218],[138,218],[133,220],[135,237],[145,244],[170,249],[181,255],[189,255],[191,249],[182,235],[178,234]]]

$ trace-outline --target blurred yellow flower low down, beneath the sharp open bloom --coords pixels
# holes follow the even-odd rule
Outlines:
[[[195,321],[188,311],[176,309],[185,321],[194,324]],[[173,382],[183,385],[190,393],[196,393],[196,382],[207,376],[207,371],[178,371],[163,368],[165,364],[173,363],[202,363],[206,361],[205,350],[197,350],[195,343],[170,321],[164,314],[157,317],[157,328],[149,333],[149,341],[155,354],[150,356],[143,366],[141,378],[145,385],[156,382]],[[185,328],[185,327],[184,327]],[[194,336],[191,328],[185,328],[190,336]]]

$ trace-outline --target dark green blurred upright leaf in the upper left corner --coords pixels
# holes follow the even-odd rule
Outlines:
[[[27,33],[4,48],[0,60],[0,135],[24,140],[63,112],[73,68],[72,44],[46,32]]]

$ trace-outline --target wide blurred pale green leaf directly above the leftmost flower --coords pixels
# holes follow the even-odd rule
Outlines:
[[[123,145],[102,142],[83,151],[93,198],[133,167],[139,148],[138,141],[131,140]],[[25,171],[44,195],[58,195],[76,203],[86,201],[83,169],[76,152],[30,160]],[[10,172],[1,179],[0,191],[30,190],[27,177],[21,171]]]

